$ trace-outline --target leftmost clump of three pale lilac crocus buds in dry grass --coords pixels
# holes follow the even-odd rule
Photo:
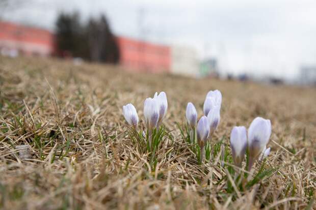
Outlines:
[[[165,92],[155,93],[153,98],[147,98],[144,102],[144,118],[149,134],[149,145],[151,144],[152,132],[159,129],[168,109],[167,95]],[[130,126],[137,129],[138,115],[133,104],[123,106],[123,115]]]

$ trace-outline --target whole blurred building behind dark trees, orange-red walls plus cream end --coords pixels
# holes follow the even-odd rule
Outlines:
[[[49,56],[55,51],[54,40],[54,34],[44,29],[0,22],[0,52]],[[170,48],[126,37],[117,37],[117,41],[120,65],[127,71],[199,75],[197,53],[193,48]],[[11,53],[10,50],[17,53]]]

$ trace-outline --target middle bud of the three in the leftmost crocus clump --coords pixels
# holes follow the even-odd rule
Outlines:
[[[156,99],[147,98],[145,100],[144,116],[147,129],[156,128],[159,119],[159,106]]]

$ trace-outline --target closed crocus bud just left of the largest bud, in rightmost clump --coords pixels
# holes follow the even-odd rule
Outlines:
[[[235,126],[230,133],[232,158],[237,166],[241,166],[247,148],[247,131],[244,126]]]

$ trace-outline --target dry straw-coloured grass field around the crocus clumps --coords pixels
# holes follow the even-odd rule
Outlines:
[[[315,88],[3,57],[0,87],[0,208],[316,208]],[[214,148],[229,154],[233,126],[249,127],[256,116],[271,119],[272,152],[265,167],[277,170],[247,189],[231,185],[229,164],[222,167],[218,155],[210,164],[197,164],[180,134],[187,103],[201,116],[209,89],[223,94]],[[168,96],[169,134],[152,164],[150,154],[132,143],[121,110],[131,102],[143,118],[143,101],[155,91]],[[30,145],[29,159],[19,158],[21,144]]]

